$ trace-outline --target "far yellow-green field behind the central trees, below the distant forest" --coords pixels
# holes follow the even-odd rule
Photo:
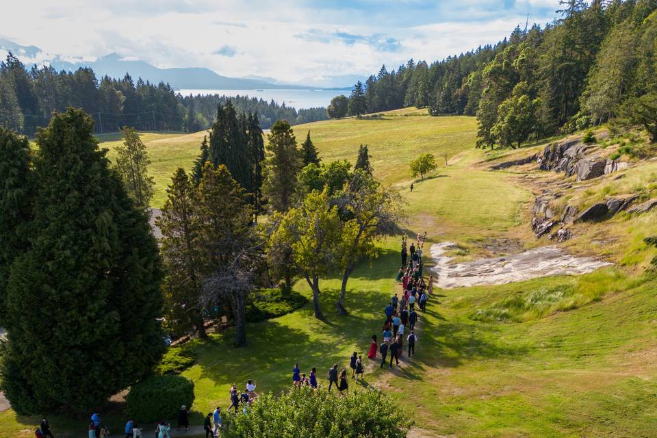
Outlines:
[[[409,179],[408,162],[432,151],[438,163],[444,156],[469,149],[476,138],[473,117],[430,117],[426,110],[397,110],[384,113],[381,118],[327,120],[293,127],[298,142],[311,131],[313,143],[325,161],[348,159],[354,163],[360,144],[369,146],[377,177],[386,183]],[[174,170],[189,169],[198,155],[205,131],[184,133],[142,133],[142,141],[151,157],[150,172],[155,177],[153,207],[161,207],[166,199],[166,186]],[[120,135],[101,136],[101,147],[110,149],[120,144]]]

